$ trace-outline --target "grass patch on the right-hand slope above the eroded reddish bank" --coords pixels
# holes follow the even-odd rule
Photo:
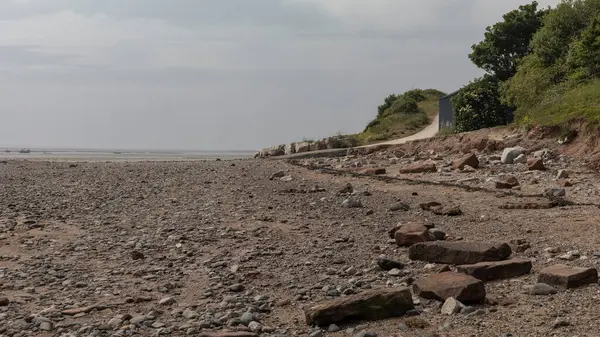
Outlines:
[[[518,117],[526,125],[555,126],[581,120],[600,125],[600,80],[554,90],[535,108],[518,111]]]

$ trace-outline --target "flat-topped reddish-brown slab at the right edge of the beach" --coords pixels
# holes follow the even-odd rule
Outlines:
[[[538,275],[538,282],[561,288],[577,288],[590,283],[598,283],[598,271],[595,268],[557,264],[542,269]]]

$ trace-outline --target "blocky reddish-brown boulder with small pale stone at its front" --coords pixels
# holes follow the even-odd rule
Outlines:
[[[450,297],[463,303],[481,302],[485,299],[485,286],[481,280],[451,271],[416,280],[413,291],[423,298],[440,301]]]

